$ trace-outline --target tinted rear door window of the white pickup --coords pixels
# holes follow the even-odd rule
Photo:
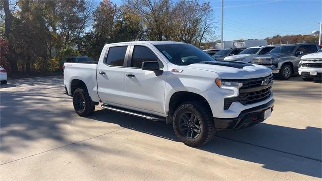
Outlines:
[[[127,46],[110,47],[105,63],[111,66],[123,66]]]

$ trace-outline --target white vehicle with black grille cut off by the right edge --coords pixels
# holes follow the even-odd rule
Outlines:
[[[304,81],[322,78],[322,49],[317,53],[302,56],[298,64],[298,74],[302,76]]]

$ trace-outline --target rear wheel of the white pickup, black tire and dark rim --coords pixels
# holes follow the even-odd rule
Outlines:
[[[82,88],[77,88],[74,91],[72,102],[79,116],[89,116],[94,113],[95,103],[91,100],[88,92]]]

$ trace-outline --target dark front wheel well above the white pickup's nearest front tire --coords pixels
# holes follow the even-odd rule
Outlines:
[[[187,91],[179,91],[174,93],[169,101],[169,116],[172,116],[175,112],[175,109],[184,102],[187,101],[200,101],[203,102],[208,108],[209,110],[211,110],[209,103],[207,102],[207,100],[196,93],[192,93],[192,92],[187,92]]]

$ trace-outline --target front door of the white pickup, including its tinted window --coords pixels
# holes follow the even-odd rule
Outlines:
[[[157,50],[149,45],[133,45],[125,70],[125,93],[127,105],[139,111],[164,113],[166,73],[156,76],[153,71],[142,70],[142,62],[158,61],[160,67],[166,66],[158,56]]]

